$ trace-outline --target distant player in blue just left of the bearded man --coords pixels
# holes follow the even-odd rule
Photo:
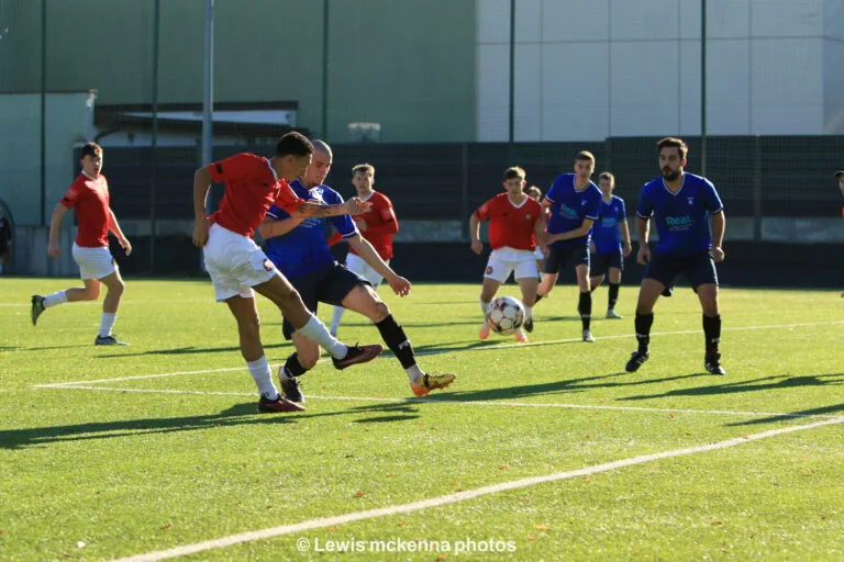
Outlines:
[[[615,177],[609,171],[598,176],[598,188],[603,194],[601,213],[592,226],[592,239],[589,243],[589,284],[592,291],[610,278],[610,295],[607,303],[607,317],[620,319],[615,313],[619,300],[621,272],[624,270],[624,258],[630,256],[630,228],[628,228],[628,212],[624,200],[613,195]]]

